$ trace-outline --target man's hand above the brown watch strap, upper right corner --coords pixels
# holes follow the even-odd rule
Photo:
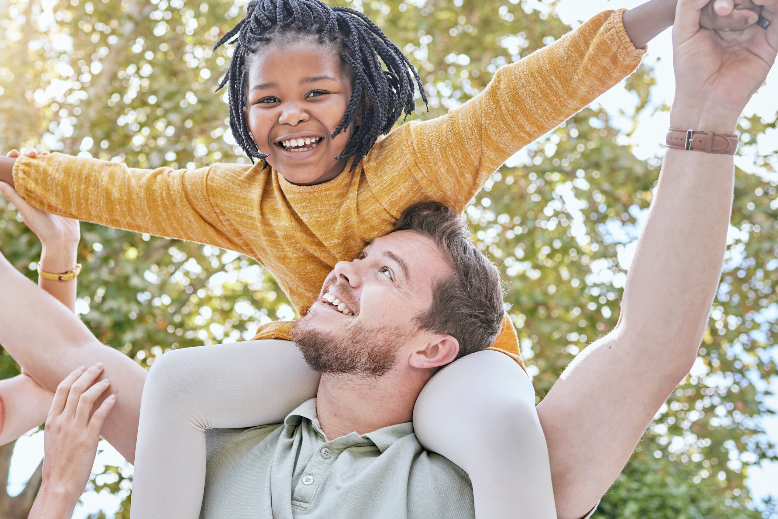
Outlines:
[[[707,0],[679,0],[673,26],[675,101],[672,128],[732,133],[765,81],[778,50],[778,0],[754,0],[770,25],[738,32],[703,29]]]

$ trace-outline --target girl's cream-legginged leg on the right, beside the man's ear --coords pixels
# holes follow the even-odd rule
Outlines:
[[[471,353],[429,380],[413,410],[419,442],[470,476],[477,519],[555,519],[548,449],[527,373]]]

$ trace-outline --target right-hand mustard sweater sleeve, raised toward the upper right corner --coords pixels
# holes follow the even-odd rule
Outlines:
[[[499,68],[481,93],[443,117],[401,127],[408,166],[424,191],[464,210],[510,156],[632,73],[645,50],[627,36],[625,10],[601,12]]]

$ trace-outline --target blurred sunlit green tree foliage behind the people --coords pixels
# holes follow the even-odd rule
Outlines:
[[[464,103],[497,68],[569,30],[552,3],[535,0],[335,3],[365,12],[412,58],[430,100],[419,118]],[[232,48],[211,50],[244,11],[244,0],[0,0],[0,150],[36,146],[132,167],[245,162],[226,94],[214,93]],[[643,67],[627,80],[639,112],[653,84]],[[659,160],[637,160],[611,118],[576,114],[506,163],[467,209],[474,240],[503,272],[538,400],[618,321],[659,174]],[[737,172],[725,272],[697,363],[595,517],[775,514],[775,503],[754,510],[744,483],[749,465],[778,459],[759,423],[772,413],[763,401],[776,374],[778,160],[754,146],[775,125],[741,120],[741,153],[756,156],[759,174]],[[0,247],[36,279],[40,244],[20,220],[0,200]],[[258,323],[295,317],[251,258],[92,224],[82,237],[77,310],[144,367],[168,349],[251,338]],[[3,352],[0,377],[16,373]],[[108,466],[90,489],[117,494],[117,517],[129,517],[128,466]]]

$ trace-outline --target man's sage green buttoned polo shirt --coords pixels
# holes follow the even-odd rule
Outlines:
[[[475,519],[468,475],[412,423],[327,440],[316,398],[281,425],[209,437],[203,519]]]

